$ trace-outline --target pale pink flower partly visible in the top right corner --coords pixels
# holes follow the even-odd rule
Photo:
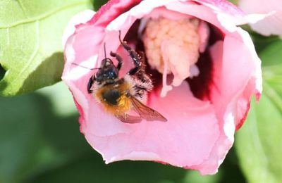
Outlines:
[[[282,35],[282,1],[240,0],[239,6],[245,13],[269,13],[264,20],[250,24],[253,30],[265,36]]]

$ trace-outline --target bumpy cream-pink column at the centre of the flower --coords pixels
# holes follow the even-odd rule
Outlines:
[[[162,97],[186,78],[199,75],[195,63],[206,47],[204,39],[209,37],[207,26],[203,25],[204,22],[197,18],[147,21],[142,39],[150,67],[163,74]],[[167,81],[169,74],[173,75],[170,84]]]

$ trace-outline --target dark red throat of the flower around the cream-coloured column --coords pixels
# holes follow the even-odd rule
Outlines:
[[[130,27],[128,33],[125,35],[124,40],[128,43],[135,44],[136,51],[143,51],[146,53],[142,39],[140,39],[140,36],[138,36],[139,26],[140,20],[136,20],[135,23],[133,23],[133,25]],[[200,74],[192,78],[188,77],[184,81],[190,84],[192,94],[194,94],[197,99],[201,100],[209,100],[211,87],[216,87],[213,85],[213,61],[209,53],[209,46],[212,46],[219,40],[223,40],[224,37],[223,32],[221,32],[221,30],[214,27],[213,25],[209,24],[209,29],[211,34],[209,36],[207,49],[203,53],[200,53],[200,58],[196,63],[197,67],[200,70]],[[147,58],[145,63],[149,65]],[[161,88],[163,77],[162,74],[148,66],[146,68],[146,72],[152,77],[152,80],[154,82],[154,89]]]

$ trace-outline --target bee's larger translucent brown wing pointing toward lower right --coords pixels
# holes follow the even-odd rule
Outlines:
[[[163,115],[154,111],[154,109],[145,106],[142,102],[136,99],[134,96],[130,96],[130,100],[133,104],[133,109],[140,115],[141,118],[148,120],[148,121],[163,121],[166,122],[166,118]]]

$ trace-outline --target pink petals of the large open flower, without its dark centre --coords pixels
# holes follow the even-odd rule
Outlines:
[[[259,58],[250,36],[236,27],[247,19],[226,1],[139,2],[109,1],[90,21],[77,25],[66,41],[62,78],[80,111],[80,130],[106,163],[154,160],[200,170],[203,175],[215,173],[233,144],[235,129],[243,124],[250,96],[262,92]],[[118,30],[123,38],[137,18],[149,17],[154,8],[195,16],[218,27],[225,36],[209,48],[214,68],[211,101],[196,99],[186,82],[164,98],[155,89],[147,106],[163,114],[168,122],[143,120],[125,124],[105,113],[87,93],[87,82],[93,72],[72,63],[97,67],[104,58],[104,42],[107,53],[117,51]],[[121,56],[125,57],[125,53]],[[125,65],[128,62],[125,59]]]

